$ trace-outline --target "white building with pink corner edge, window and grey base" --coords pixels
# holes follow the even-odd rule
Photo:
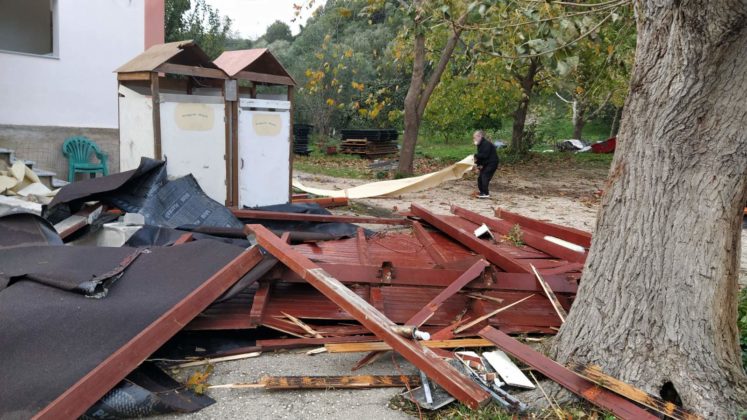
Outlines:
[[[164,40],[164,0],[0,0],[0,148],[65,179],[85,135],[119,169],[114,70]]]

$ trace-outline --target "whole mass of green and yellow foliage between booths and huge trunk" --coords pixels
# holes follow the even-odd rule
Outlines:
[[[307,0],[296,9],[311,10],[315,3],[321,2]],[[475,129],[510,143],[514,113],[527,98],[521,81],[530,60],[540,70],[519,133],[524,149],[543,150],[573,137],[570,107],[556,91],[599,108],[585,126],[587,140],[608,137],[627,91],[635,24],[629,7],[598,9],[528,0],[329,0],[295,38],[268,37],[268,28],[254,47],[269,48],[299,83],[294,121],[330,136],[344,128],[401,129],[413,36],[426,35],[427,78],[453,21],[468,10],[461,41],[425,110],[425,143],[416,149],[422,156],[455,160],[471,149]]]

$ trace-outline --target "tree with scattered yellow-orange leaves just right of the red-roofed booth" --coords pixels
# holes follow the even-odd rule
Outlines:
[[[296,120],[330,135],[348,127],[397,123],[405,74],[392,60],[401,26],[398,10],[363,13],[367,0],[330,0],[317,9],[292,43],[267,46],[300,84]]]

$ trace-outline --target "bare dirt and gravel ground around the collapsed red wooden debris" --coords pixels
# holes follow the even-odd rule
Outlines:
[[[322,188],[345,188],[359,185],[364,180],[333,178],[307,173],[295,173],[305,185]],[[448,213],[451,204],[492,215],[496,207],[522,215],[549,220],[575,228],[593,231],[599,207],[598,192],[603,188],[607,171],[600,169],[557,168],[552,174],[546,169],[501,168],[490,185],[491,198],[471,198],[476,190],[476,175],[446,183],[420,193],[392,198],[356,200],[347,210],[333,210],[342,214],[385,215],[409,209],[417,202],[431,210]],[[381,226],[367,226],[381,228]],[[744,231],[743,231],[744,241]],[[742,266],[747,266],[742,252]],[[745,271],[741,272],[742,280]],[[308,356],[304,352],[267,353],[253,359],[219,363],[209,379],[211,384],[257,381],[263,375],[349,375],[350,367],[360,354],[320,354]],[[359,374],[413,374],[415,369],[401,358],[397,366],[391,357],[357,372]],[[187,375],[189,372],[182,372]],[[389,400],[400,389],[326,390],[269,392],[258,389],[214,389],[208,394],[217,403],[193,415],[162,416],[161,419],[184,418],[257,418],[257,419],[401,419],[410,417],[402,411],[388,408]]]

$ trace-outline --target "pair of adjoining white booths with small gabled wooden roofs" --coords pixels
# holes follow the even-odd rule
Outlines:
[[[122,171],[143,156],[166,159],[170,177],[192,174],[226,206],[290,202],[295,82],[267,49],[229,51],[211,62],[192,41],[172,42],[116,72]],[[258,85],[287,93],[259,99]]]

